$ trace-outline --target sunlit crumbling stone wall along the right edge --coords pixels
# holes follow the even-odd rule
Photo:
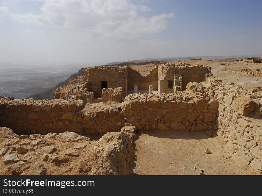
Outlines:
[[[262,173],[262,93],[250,93],[244,87],[213,77],[207,81],[191,83],[187,91],[191,96],[205,95],[206,99],[217,101],[218,134],[231,145],[234,156],[245,159],[249,167]]]

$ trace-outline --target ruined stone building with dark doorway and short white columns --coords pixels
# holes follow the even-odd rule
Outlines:
[[[83,99],[84,103],[121,102],[131,93],[149,92],[149,87],[155,93],[182,91],[188,82],[202,82],[209,76],[213,76],[211,67],[190,64],[156,64],[146,76],[131,66],[92,67],[84,70],[83,77],[73,78],[68,85],[57,88],[54,98],[66,99],[69,93],[74,99]],[[101,97],[103,101],[96,100]]]

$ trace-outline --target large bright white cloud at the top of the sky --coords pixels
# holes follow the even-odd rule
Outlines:
[[[166,29],[174,13],[144,17],[151,9],[127,0],[43,0],[40,14],[16,14],[19,22],[70,29],[100,37],[138,37]]]

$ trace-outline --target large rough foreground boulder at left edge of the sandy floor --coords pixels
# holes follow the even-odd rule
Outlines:
[[[95,147],[109,175],[132,175],[133,145],[128,135],[111,132],[103,135]]]

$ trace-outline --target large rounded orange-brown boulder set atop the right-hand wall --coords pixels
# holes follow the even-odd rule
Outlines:
[[[241,96],[233,101],[233,109],[240,115],[247,116],[255,110],[253,99]]]

